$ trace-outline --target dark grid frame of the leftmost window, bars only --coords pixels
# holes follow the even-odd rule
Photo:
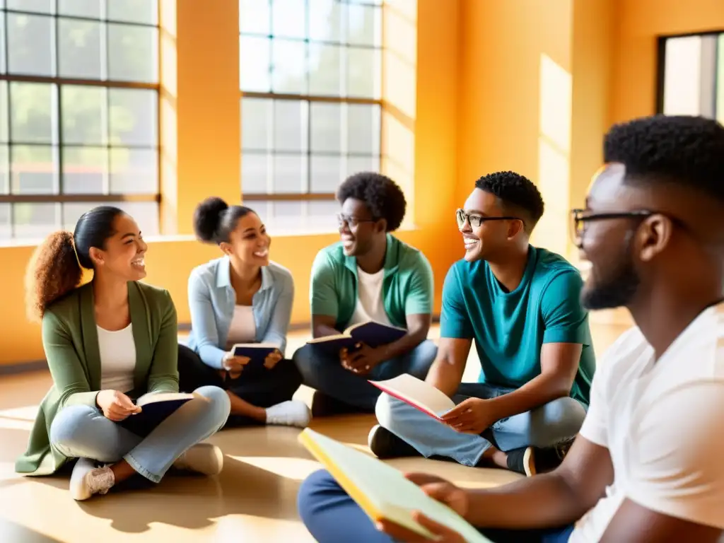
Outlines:
[[[9,58],[10,58],[10,51],[9,51],[9,39],[8,39],[8,14],[19,14],[19,15],[30,15],[30,16],[41,16],[41,17],[51,17],[53,19],[54,24],[54,32],[55,32],[55,40],[53,44],[53,52],[54,52],[54,72],[56,74],[59,72],[59,20],[76,20],[76,21],[83,21],[83,22],[100,22],[101,25],[107,25],[113,24],[113,25],[127,25],[131,26],[133,28],[156,28],[157,29],[157,36],[156,36],[156,47],[157,51],[161,51],[161,2],[163,0],[159,0],[157,3],[157,11],[156,14],[156,24],[152,25],[150,23],[144,23],[144,22],[130,22],[130,21],[122,21],[122,20],[109,20],[107,17],[105,18],[95,18],[95,17],[83,17],[80,15],[66,15],[66,14],[59,14],[58,13],[58,3],[59,0],[52,0],[53,1],[53,12],[52,13],[46,13],[46,12],[33,12],[33,11],[25,11],[22,9],[10,9],[7,7],[6,4],[2,8],[0,8],[0,12],[4,14],[3,17],[3,38],[4,38],[4,64],[5,64],[5,72],[0,73],[0,82],[7,83],[7,108],[8,108],[8,114],[10,109],[10,102],[11,102],[11,83],[41,83],[46,85],[54,85],[54,88],[51,87],[52,92],[54,92],[54,100],[56,101],[56,111],[54,111],[54,117],[56,117],[54,120],[57,122],[57,141],[56,143],[51,144],[52,148],[56,148],[58,151],[57,161],[55,162],[55,165],[57,166],[57,172],[58,172],[58,193],[57,194],[13,194],[12,193],[12,148],[16,143],[14,143],[12,138],[12,122],[10,117],[8,117],[8,125],[7,125],[7,144],[4,143],[4,145],[7,145],[8,148],[8,156],[7,156],[7,175],[8,177],[8,193],[2,194],[0,193],[0,204],[2,203],[8,203],[9,205],[9,240],[20,240],[22,238],[16,237],[16,225],[14,223],[14,204],[16,203],[120,203],[120,202],[154,202],[156,203],[156,214],[158,215],[156,219],[160,220],[160,214],[161,214],[161,175],[162,175],[162,158],[161,158],[161,74],[159,72],[156,83],[143,83],[138,81],[127,81],[127,80],[112,80],[112,79],[85,79],[85,78],[75,78],[75,77],[59,77],[57,75],[26,75],[26,74],[14,74],[9,71]],[[104,0],[98,0],[103,2]],[[111,0],[109,0],[111,1]],[[101,7],[102,13],[105,12],[105,8]],[[107,39],[107,38],[106,38]],[[109,50],[106,46],[106,64],[109,62]],[[159,62],[159,69],[160,69],[160,62]],[[63,165],[64,165],[64,159],[63,159],[63,126],[62,126],[62,119],[63,119],[63,108],[62,108],[62,89],[65,86],[87,86],[91,88],[104,88],[106,90],[111,89],[143,89],[143,90],[153,90],[155,91],[155,100],[156,100],[156,143],[155,143],[155,149],[156,149],[156,190],[155,193],[70,193],[66,194],[63,193]],[[110,104],[110,93],[106,92],[106,108],[109,108]],[[21,142],[20,145],[28,145],[28,142]],[[44,144],[38,144],[38,145],[44,145]],[[107,151],[109,151],[107,154],[107,164],[106,164],[106,171],[111,172],[111,149],[118,148],[118,146],[111,146],[110,142],[107,142],[105,145],[98,145],[98,146],[90,146],[90,145],[71,145],[71,148],[83,148],[83,147],[98,147],[98,148],[106,148]],[[128,148],[146,148],[142,146],[130,146]],[[151,149],[152,147],[148,147],[148,149]],[[59,209],[59,227],[63,227],[64,224],[64,206],[60,206]],[[160,222],[159,222],[160,224]]]

